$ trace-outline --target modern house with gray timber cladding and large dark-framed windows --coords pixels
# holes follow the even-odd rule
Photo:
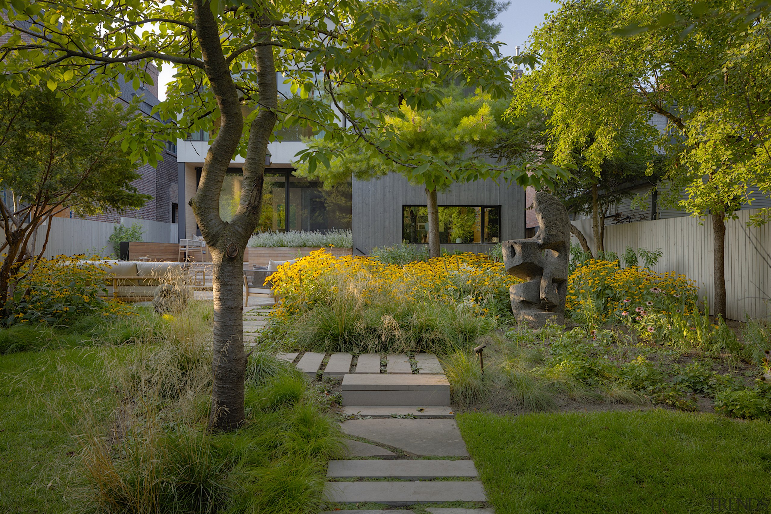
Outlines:
[[[288,88],[279,79],[279,88]],[[284,94],[291,94],[288,89]],[[352,229],[355,254],[402,241],[426,243],[426,193],[392,173],[377,180],[352,180],[325,188],[295,176],[295,154],[306,145],[301,130],[285,130],[281,142],[268,145],[271,164],[265,170],[263,217],[258,230]],[[177,140],[177,197],[180,238],[200,234],[187,204],[198,185],[210,134],[194,133]],[[231,161],[221,193],[221,216],[232,216],[241,194],[244,160]],[[480,252],[503,240],[524,237],[524,190],[491,180],[456,184],[439,193],[439,238],[447,250]]]

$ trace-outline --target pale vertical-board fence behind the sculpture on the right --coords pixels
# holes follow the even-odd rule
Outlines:
[[[771,313],[771,227],[748,227],[749,217],[755,212],[742,210],[739,219],[726,221],[726,315],[734,320]],[[591,220],[577,220],[573,224],[594,249]],[[710,309],[715,291],[713,241],[709,218],[703,224],[695,217],[678,217],[605,227],[605,250],[621,256],[628,246],[660,248],[663,255],[653,270],[688,276],[699,286],[699,294],[707,298]],[[578,240],[573,237],[573,242],[577,244]]]

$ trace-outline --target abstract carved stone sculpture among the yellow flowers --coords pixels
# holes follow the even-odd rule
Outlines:
[[[535,237],[502,246],[507,272],[526,281],[509,289],[514,317],[520,324],[540,328],[547,320],[564,324],[571,222],[560,200],[543,191],[535,193],[535,214]]]

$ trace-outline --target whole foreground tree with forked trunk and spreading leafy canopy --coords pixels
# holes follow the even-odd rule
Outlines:
[[[149,82],[143,62],[172,65],[167,99],[153,108],[172,123],[150,130],[129,123],[123,147],[153,163],[163,139],[214,133],[190,200],[214,261],[212,425],[234,428],[244,420],[243,252],[259,223],[274,130],[308,125],[335,143],[300,156],[311,172],[362,141],[369,153],[419,170],[437,160],[377,129],[399,106],[430,109],[443,98],[442,87],[455,82],[505,93],[507,60],[499,45],[478,39],[479,14],[449,0],[430,6],[425,16],[409,17],[391,0],[0,2],[8,15],[0,35],[11,35],[0,46],[0,86],[18,90],[25,76],[65,98],[96,99],[114,89],[120,74],[135,87]],[[291,96],[279,100],[278,80]],[[244,156],[244,193],[226,222],[220,192],[237,154]]]

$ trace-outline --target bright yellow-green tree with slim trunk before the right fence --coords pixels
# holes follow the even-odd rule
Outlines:
[[[600,173],[630,134],[640,149],[658,149],[672,182],[664,200],[677,203],[685,188],[681,207],[710,213],[722,240],[723,219],[751,202],[749,193],[771,193],[771,40],[767,8],[756,4],[564,2],[520,59],[540,66],[517,81],[513,111],[538,106],[550,113],[547,147],[555,163],[574,162],[573,150],[583,148],[586,166]],[[662,133],[649,123],[654,113],[667,120]],[[763,210],[756,220],[766,217]],[[715,247],[716,259],[722,252]],[[720,267],[716,260],[716,282]]]

